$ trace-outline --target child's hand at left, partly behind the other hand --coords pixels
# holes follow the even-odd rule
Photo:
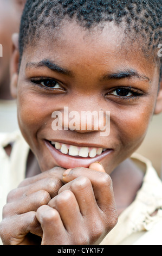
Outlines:
[[[63,185],[63,172],[64,169],[55,167],[25,179],[9,193],[0,224],[0,236],[4,245],[41,243],[38,237],[42,236],[42,228],[36,218],[36,211],[57,195]]]

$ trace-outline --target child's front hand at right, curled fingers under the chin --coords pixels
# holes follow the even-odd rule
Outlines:
[[[115,226],[118,216],[112,180],[96,163],[66,170],[59,194],[38,208],[42,245],[95,245]],[[102,171],[102,172],[101,172]]]

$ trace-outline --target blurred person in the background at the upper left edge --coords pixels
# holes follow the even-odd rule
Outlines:
[[[25,0],[0,0],[0,131],[11,132],[18,128],[17,107],[10,94],[10,56],[12,34],[18,32]]]

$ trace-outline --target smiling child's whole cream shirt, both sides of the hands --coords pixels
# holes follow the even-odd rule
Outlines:
[[[4,151],[9,143],[10,157]],[[25,178],[28,154],[29,146],[19,131],[0,133],[1,213],[9,191]],[[145,172],[144,182],[134,202],[122,212],[118,224],[100,245],[162,245],[162,182],[145,157],[133,154],[132,160]],[[155,216],[151,216],[156,210]]]

